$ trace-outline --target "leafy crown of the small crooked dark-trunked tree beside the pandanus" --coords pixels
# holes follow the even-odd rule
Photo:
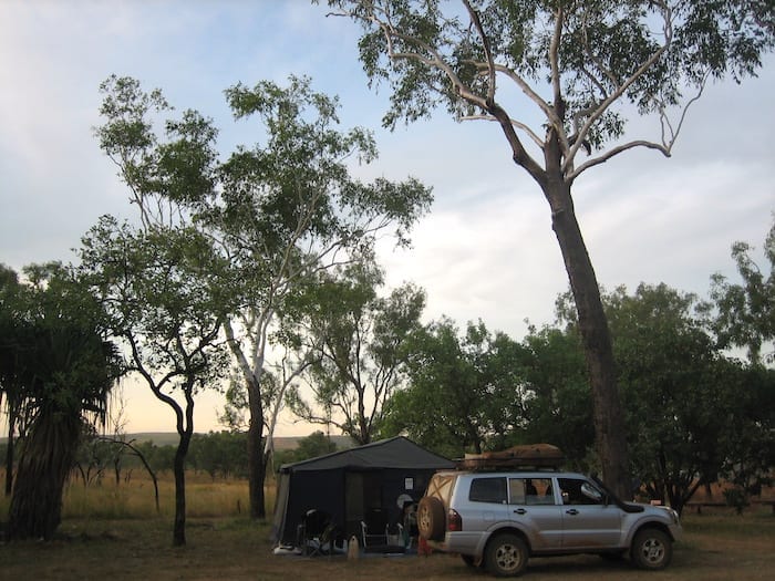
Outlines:
[[[230,304],[210,241],[188,227],[134,230],[106,216],[82,242],[81,270],[157,397],[172,404],[165,390],[217,385],[228,363],[218,331]]]

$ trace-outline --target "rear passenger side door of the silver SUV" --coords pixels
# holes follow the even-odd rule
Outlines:
[[[508,479],[509,520],[526,532],[535,551],[562,544],[562,507],[555,502],[551,478]]]

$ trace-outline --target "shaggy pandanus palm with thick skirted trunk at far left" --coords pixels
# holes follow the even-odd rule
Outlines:
[[[11,538],[53,537],[83,423],[104,421],[120,371],[118,354],[101,335],[89,297],[59,282],[49,280],[33,293],[37,301],[17,343],[19,383],[31,414],[11,497]]]

